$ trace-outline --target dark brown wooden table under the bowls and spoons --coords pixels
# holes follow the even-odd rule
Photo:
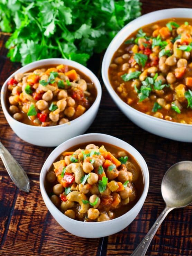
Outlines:
[[[192,7],[189,0],[142,2],[143,13]],[[11,63],[6,57],[7,50],[3,46],[7,38],[0,38],[0,85],[20,67],[20,64]],[[96,57],[101,66],[102,57]],[[100,68],[95,70],[92,65],[89,67],[102,83]],[[25,169],[31,186],[30,193],[17,189],[0,162],[0,255],[129,255],[164,209],[161,196],[163,175],[174,163],[192,159],[191,144],[158,137],[140,129],[115,106],[103,84],[102,91],[97,118],[86,132],[116,136],[143,155],[149,168],[150,184],[140,213],[126,229],[104,239],[77,238],[69,234],[48,212],[39,189],[41,167],[53,148],[33,146],[18,138],[0,108],[0,140]],[[192,206],[188,206],[169,213],[146,255],[192,255],[191,210]]]

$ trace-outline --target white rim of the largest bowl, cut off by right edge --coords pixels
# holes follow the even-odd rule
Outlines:
[[[146,17],[149,17],[149,16],[155,16],[156,14],[161,14],[162,15],[162,19],[168,19],[168,18],[164,18],[163,15],[164,13],[170,13],[170,18],[174,18],[174,13],[175,12],[182,12],[184,13],[185,11],[192,11],[192,8],[170,8],[170,9],[162,9],[162,10],[157,10],[157,11],[153,11],[153,12],[149,12],[149,13],[146,13],[132,21],[130,21],[125,27],[123,27],[118,33],[117,35],[112,39],[111,43],[109,44],[105,54],[104,54],[104,57],[103,57],[103,61],[102,61],[102,67],[101,67],[101,74],[102,74],[102,79],[103,79],[103,82],[109,92],[109,94],[111,95],[112,99],[116,102],[118,101],[119,102],[119,105],[122,106],[124,109],[127,108],[128,111],[132,111],[134,112],[136,115],[141,115],[141,116],[145,116],[145,118],[149,118],[149,119],[152,119],[154,120],[155,122],[164,122],[165,124],[168,124],[168,125],[172,125],[172,126],[177,126],[177,127],[180,127],[180,126],[184,126],[184,127],[189,127],[189,128],[192,128],[192,124],[182,124],[182,123],[179,123],[179,122],[172,122],[172,121],[168,121],[168,120],[164,120],[164,119],[160,119],[160,118],[157,118],[157,117],[153,117],[153,116],[150,116],[150,115],[147,115],[146,113],[143,113],[135,108],[132,108],[131,106],[129,106],[128,104],[126,104],[120,97],[119,95],[115,92],[115,90],[112,88],[111,86],[111,83],[110,83],[110,80],[109,80],[109,74],[108,74],[108,70],[109,70],[109,65],[107,65],[107,61],[109,60],[110,58],[110,62],[111,62],[111,59],[113,57],[113,54],[115,53],[114,50],[112,49],[113,46],[116,45],[116,40],[117,38],[121,37],[121,35],[125,34],[128,32],[128,28],[130,26],[134,26],[135,25],[135,22],[138,22],[140,21],[140,23],[142,24],[142,20],[144,20]],[[183,15],[184,16],[184,15]],[[176,17],[177,18],[177,17]],[[179,18],[179,17],[178,17]],[[182,17],[181,17],[182,18]],[[185,18],[185,17],[184,17]],[[188,17],[186,17],[187,19]],[[158,19],[158,20],[161,20],[161,19]],[[157,20],[157,21],[158,21]],[[151,24],[155,21],[152,21],[148,24]],[[147,25],[147,24],[146,24]],[[146,26],[145,25],[145,26]],[[138,28],[136,28],[135,30],[139,29],[139,28],[142,28],[143,26],[139,26]],[[127,37],[132,34],[131,33],[127,33]],[[120,45],[124,42],[124,40],[118,45],[118,47],[116,47],[117,49],[120,47]],[[109,63],[110,64],[110,63]],[[107,69],[107,72],[106,72],[106,69]]]

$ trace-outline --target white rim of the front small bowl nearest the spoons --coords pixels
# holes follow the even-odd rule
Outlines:
[[[138,152],[138,150],[136,149],[136,148],[134,148],[133,146],[131,146],[129,143],[127,143],[126,141],[124,141],[124,140],[121,140],[121,139],[119,139],[119,138],[117,138],[117,137],[115,137],[115,136],[111,136],[111,135],[108,135],[108,134],[101,134],[101,133],[88,133],[88,134],[83,134],[83,135],[79,135],[79,136],[76,136],[76,137],[73,137],[73,138],[71,138],[71,139],[68,139],[68,140],[66,140],[66,141],[64,141],[62,144],[60,144],[60,145],[58,145],[52,152],[51,152],[51,154],[49,154],[49,156],[47,157],[47,159],[46,159],[46,161],[45,161],[45,163],[44,163],[44,165],[42,166],[42,169],[41,169],[41,171],[40,171],[40,175],[39,175],[39,184],[40,184],[40,191],[41,191],[41,194],[42,194],[42,198],[43,198],[43,200],[44,200],[44,202],[45,202],[45,200],[47,201],[48,200],[48,203],[49,203],[49,205],[51,206],[51,208],[54,210],[54,211],[56,211],[56,213],[57,213],[57,215],[61,218],[61,219],[63,219],[63,220],[67,220],[67,221],[69,221],[69,222],[73,222],[73,223],[79,223],[80,225],[101,225],[100,223],[103,223],[103,222],[105,222],[106,223],[106,221],[101,221],[101,222],[83,222],[83,221],[79,221],[79,220],[74,220],[74,219],[71,219],[71,218],[68,218],[67,216],[65,216],[65,214],[64,213],[62,213],[53,203],[52,203],[52,201],[50,200],[50,198],[49,198],[49,196],[48,196],[48,194],[47,194],[47,192],[46,192],[46,190],[45,190],[45,185],[44,185],[44,182],[45,182],[45,180],[43,180],[43,173],[45,173],[45,167],[46,167],[46,165],[47,165],[47,162],[49,161],[49,159],[50,158],[52,158],[53,156],[54,156],[54,154],[55,154],[55,152],[59,149],[59,148],[62,148],[63,147],[63,145],[64,144],[66,144],[66,143],[68,143],[68,142],[71,142],[71,141],[74,141],[74,146],[75,146],[75,140],[77,139],[77,138],[85,138],[85,137],[91,137],[91,136],[99,136],[99,137],[101,137],[101,138],[103,138],[104,139],[104,137],[108,137],[108,138],[110,138],[110,139],[116,139],[119,143],[121,143],[121,142],[123,142],[123,143],[125,143],[125,144],[127,144],[127,146],[129,147],[129,148],[131,148],[132,150],[134,150],[135,151],[135,153],[137,153],[137,154],[139,154],[139,156],[140,156],[140,158],[141,158],[141,161],[143,162],[143,164],[144,164],[144,166],[145,166],[145,171],[146,171],[146,175],[144,176],[144,173],[143,173],[143,170],[141,170],[141,172],[143,173],[143,179],[144,179],[144,189],[143,189],[143,192],[142,192],[142,194],[141,194],[141,196],[140,196],[140,198],[139,198],[139,200],[137,201],[137,203],[129,210],[129,211],[127,211],[126,213],[124,213],[123,215],[121,215],[121,216],[119,216],[119,217],[117,217],[117,218],[115,218],[115,219],[112,219],[112,220],[108,220],[107,221],[107,223],[110,223],[111,221],[113,221],[113,222],[115,222],[115,221],[119,221],[120,219],[123,219],[123,218],[125,218],[126,217],[126,215],[128,215],[128,214],[131,214],[131,213],[134,213],[134,211],[135,211],[135,209],[137,208],[137,205],[141,202],[142,203],[142,200],[144,199],[144,202],[143,202],[143,204],[145,203],[145,200],[146,200],[146,197],[147,197],[147,193],[148,193],[148,190],[149,190],[149,170],[148,170],[148,166],[147,166],[147,164],[146,164],[146,161],[145,161],[145,159],[143,158],[143,156]],[[92,141],[97,141],[97,139],[96,140],[92,140]],[[89,142],[92,142],[91,141],[91,139],[90,139],[90,141],[87,141],[87,143],[89,143]],[[102,140],[103,141],[103,140]],[[98,140],[98,142],[101,142],[101,141],[99,141]],[[104,143],[105,143],[105,141],[103,141]],[[112,144],[112,145],[114,145],[114,144]],[[58,157],[58,156],[57,156]],[[134,157],[135,158],[135,157]],[[54,158],[54,159],[56,159],[56,158]],[[137,161],[137,159],[135,158],[135,160]],[[137,161],[138,162],[138,161]],[[139,164],[139,163],[138,163]],[[46,174],[45,174],[46,175]],[[146,179],[146,182],[145,182],[145,179]],[[44,199],[45,198],[45,199]],[[142,206],[141,206],[141,208],[143,207],[143,204],[142,204]],[[46,204],[46,207],[47,207],[47,204]],[[47,207],[47,209],[48,209],[48,207]],[[49,210],[49,209],[48,209]],[[135,217],[136,218],[136,217]],[[135,219],[134,218],[134,219]]]

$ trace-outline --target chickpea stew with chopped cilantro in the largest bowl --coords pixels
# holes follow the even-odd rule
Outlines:
[[[112,57],[109,80],[131,107],[192,124],[192,19],[160,20],[132,33]]]

